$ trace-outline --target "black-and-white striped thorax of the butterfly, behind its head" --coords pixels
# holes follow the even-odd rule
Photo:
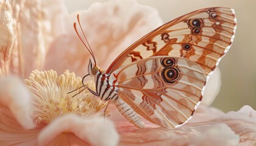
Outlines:
[[[99,71],[95,76],[96,91],[101,100],[114,102],[118,99],[118,88],[109,80],[109,75]]]

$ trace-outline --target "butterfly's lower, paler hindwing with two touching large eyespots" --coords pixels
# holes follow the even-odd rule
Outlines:
[[[207,75],[186,58],[156,56],[122,66],[110,75],[110,80],[116,83],[119,98],[137,114],[162,127],[174,128],[193,115]]]

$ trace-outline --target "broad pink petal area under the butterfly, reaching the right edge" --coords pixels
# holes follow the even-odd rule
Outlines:
[[[115,119],[119,120],[119,145],[256,145],[255,117],[250,106],[225,114],[201,105],[192,120],[172,130],[137,129],[129,122]]]

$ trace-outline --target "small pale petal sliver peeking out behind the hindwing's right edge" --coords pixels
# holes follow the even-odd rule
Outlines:
[[[204,97],[202,99],[202,105],[210,106],[215,97],[218,96],[221,89],[221,71],[216,68],[213,74],[208,79],[207,85],[204,90]]]

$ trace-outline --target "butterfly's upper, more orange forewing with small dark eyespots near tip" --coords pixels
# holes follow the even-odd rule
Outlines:
[[[188,58],[210,74],[229,50],[235,29],[233,9],[213,7],[188,13],[132,44],[113,61],[106,73],[111,74],[133,61],[169,55]]]

